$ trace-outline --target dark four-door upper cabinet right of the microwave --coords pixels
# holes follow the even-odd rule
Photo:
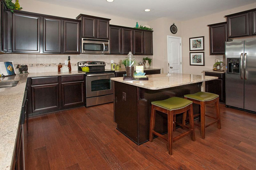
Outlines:
[[[153,55],[153,31],[110,25],[110,54]]]

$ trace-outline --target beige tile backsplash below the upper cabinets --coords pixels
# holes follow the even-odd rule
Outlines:
[[[65,60],[68,60],[70,56],[70,62],[72,70],[77,70],[77,62],[80,61],[104,61],[106,62],[106,69],[110,69],[111,60],[116,63],[121,63],[125,59],[126,55],[95,55],[95,54],[79,54],[79,55],[66,55],[66,54],[1,54],[0,61],[12,61],[14,65],[28,65],[29,73],[40,72],[56,72],[58,71],[58,64],[64,64]],[[134,56],[136,62],[142,61],[147,56]],[[153,59],[153,56],[148,56]],[[153,62],[152,62],[153,63]],[[122,68],[124,65],[121,66]],[[15,67],[16,68],[16,67]],[[18,69],[15,69],[15,73],[19,73]]]

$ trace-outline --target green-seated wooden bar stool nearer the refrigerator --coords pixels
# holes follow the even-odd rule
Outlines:
[[[197,92],[195,94],[189,94],[189,95],[184,95],[185,99],[191,100],[193,103],[200,104],[200,109],[201,109],[201,137],[204,139],[204,133],[205,133],[205,128],[216,123],[218,124],[218,129],[221,128],[220,126],[220,108],[219,108],[219,95],[213,94],[213,93],[208,93],[208,92]],[[206,104],[212,104],[215,103],[215,110],[216,110],[216,117],[212,117],[209,115],[205,114],[205,105]],[[194,115],[194,117],[198,116],[199,114]],[[205,116],[211,117],[215,119],[210,124],[205,125]],[[196,126],[200,127],[200,124],[196,124]]]

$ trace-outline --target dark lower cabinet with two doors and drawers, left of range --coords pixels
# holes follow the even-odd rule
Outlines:
[[[84,105],[84,74],[28,79],[28,115]]]

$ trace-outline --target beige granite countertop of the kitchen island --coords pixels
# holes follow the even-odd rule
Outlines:
[[[167,74],[152,74],[147,76],[148,80],[146,81],[124,81],[123,77],[115,77],[111,78],[111,80],[145,89],[158,90],[218,79],[218,77],[213,76],[179,73],[172,73],[169,76],[167,76]]]

